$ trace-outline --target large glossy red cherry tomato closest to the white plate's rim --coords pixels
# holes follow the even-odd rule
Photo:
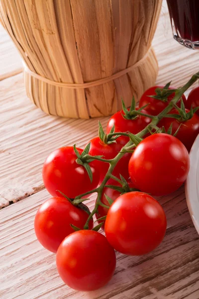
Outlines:
[[[128,165],[137,189],[152,195],[176,191],[186,180],[190,168],[189,153],[176,137],[154,134],[134,150]]]

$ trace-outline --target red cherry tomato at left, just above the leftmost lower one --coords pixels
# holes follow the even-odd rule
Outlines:
[[[83,149],[77,149],[81,154]],[[73,147],[54,150],[45,160],[42,170],[43,182],[52,196],[62,196],[57,190],[70,198],[95,189],[98,186],[100,173],[95,161],[89,163],[93,173],[91,183],[84,166],[76,162],[77,156]]]

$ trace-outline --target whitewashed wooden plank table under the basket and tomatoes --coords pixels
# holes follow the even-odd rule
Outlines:
[[[157,83],[173,80],[180,86],[199,71],[199,52],[172,38],[165,3],[153,45],[160,66]],[[107,118],[100,121],[105,126]],[[42,163],[53,149],[83,147],[97,131],[97,119],[61,119],[33,106],[20,57],[0,27],[0,299],[199,299],[199,235],[184,186],[158,199],[168,228],[155,251],[142,257],[117,253],[113,279],[96,292],[76,292],[59,278],[55,255],[42,248],[33,229],[38,207],[49,198]]]

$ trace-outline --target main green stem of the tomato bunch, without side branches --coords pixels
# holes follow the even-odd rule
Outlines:
[[[151,120],[151,123],[149,125],[147,125],[145,129],[143,129],[138,134],[136,134],[136,136],[143,137],[144,135],[146,135],[149,132],[148,129],[152,129],[154,125],[156,126],[159,123],[159,121],[166,114],[168,114],[172,110],[173,104],[176,104],[180,100],[180,98],[182,97],[182,95],[184,94],[184,92],[188,88],[190,88],[192,86],[192,84],[194,84],[197,81],[197,79],[199,79],[199,72],[196,73],[195,75],[193,75],[192,78],[183,87],[181,87],[180,89],[176,90],[175,97],[172,99],[172,101],[169,103],[169,105],[161,113],[159,113],[158,116],[153,116],[153,118]],[[97,188],[96,192],[98,192],[98,197],[97,197],[97,200],[96,200],[96,204],[95,204],[95,207],[94,207],[93,211],[91,212],[91,214],[89,215],[89,217],[87,219],[87,222],[86,222],[86,224],[84,226],[84,229],[89,229],[89,221],[93,218],[93,216],[95,215],[95,213],[98,211],[98,207],[99,207],[100,202],[101,202],[100,200],[101,200],[101,194],[102,194],[103,188],[104,188],[106,182],[108,181],[108,179],[111,177],[111,173],[112,173],[115,165],[120,160],[120,158],[125,154],[125,152],[123,152],[123,151],[125,151],[126,149],[128,149],[132,145],[133,145],[133,143],[131,141],[129,141],[121,149],[121,151],[114,157],[114,159],[111,160],[110,166],[108,168],[108,171],[107,171],[107,173],[106,173],[106,175],[105,175],[105,177],[104,177],[101,185]],[[95,192],[95,191],[93,191],[93,192]]]

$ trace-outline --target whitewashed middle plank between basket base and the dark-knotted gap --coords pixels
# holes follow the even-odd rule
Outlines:
[[[0,82],[0,202],[17,201],[43,188],[42,164],[54,149],[83,147],[98,132],[98,120],[44,114],[25,95],[22,74]],[[107,118],[100,120],[105,125]]]

